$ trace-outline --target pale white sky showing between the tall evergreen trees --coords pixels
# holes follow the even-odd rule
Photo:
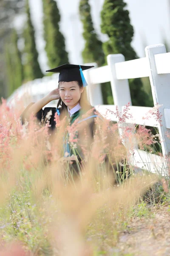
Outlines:
[[[100,11],[104,0],[89,0],[94,27],[102,41],[107,36],[100,32]],[[147,45],[170,42],[170,0],[125,0],[130,12],[134,29],[132,46],[139,57],[144,57]],[[42,72],[48,69],[47,56],[44,50],[42,23],[42,0],[29,0],[31,19],[35,28],[36,45]],[[61,15],[61,32],[65,36],[66,49],[72,64],[82,64],[81,51],[84,47],[82,23],[79,20],[79,0],[57,0]],[[15,25],[22,26],[23,17],[17,17]]]

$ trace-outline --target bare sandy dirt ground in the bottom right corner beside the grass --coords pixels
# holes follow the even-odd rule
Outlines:
[[[168,207],[154,207],[151,212],[153,218],[134,218],[120,234],[118,248],[121,252],[135,256],[170,256]]]

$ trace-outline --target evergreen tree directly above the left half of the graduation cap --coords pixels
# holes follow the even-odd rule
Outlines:
[[[65,38],[60,32],[60,14],[55,0],[42,0],[44,12],[45,50],[50,68],[60,66],[68,61],[68,52],[65,50]]]

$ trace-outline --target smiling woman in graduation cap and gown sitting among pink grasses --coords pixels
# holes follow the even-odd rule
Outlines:
[[[105,125],[105,122],[103,122],[104,118],[90,105],[87,99],[85,88],[87,82],[85,81],[82,70],[91,67],[93,66],[80,67],[79,65],[65,64],[48,70],[48,72],[59,72],[58,88],[51,91],[51,93],[38,102],[29,105],[22,115],[24,122],[25,119],[28,120],[31,113],[33,113],[37,116],[37,119],[42,125],[46,123],[49,124],[48,129],[51,134],[59,134],[62,130],[58,138],[62,140],[60,143],[62,144],[60,160],[71,161],[71,169],[74,169],[76,172],[80,172],[82,163],[85,163],[87,156],[91,156],[91,148],[94,148],[95,144],[94,137],[98,138],[97,148],[94,152],[95,154],[98,151],[100,152],[99,154],[97,153],[98,159],[101,157],[103,148],[104,151],[106,151],[106,147],[108,147],[109,143],[111,147],[115,144],[111,141],[111,129],[108,127],[108,122],[105,120]],[[44,108],[42,110],[46,104],[55,99],[58,99],[57,108]],[[61,125],[62,120],[64,127]],[[96,132],[98,124],[100,131],[98,130],[98,132]],[[57,133],[54,131],[57,131]],[[52,140],[54,137],[51,136]],[[117,143],[118,140],[115,135],[112,137],[114,137]],[[53,143],[52,140],[51,143]],[[57,143],[57,146],[59,146],[59,141]],[[100,143],[102,143],[102,145],[99,145]],[[87,144],[86,155],[85,144]],[[102,160],[106,160],[107,158],[107,154],[102,153]],[[113,157],[113,159],[115,160],[115,157]],[[111,168],[113,168],[113,166],[111,166]],[[116,166],[114,165],[114,169],[115,168]]]

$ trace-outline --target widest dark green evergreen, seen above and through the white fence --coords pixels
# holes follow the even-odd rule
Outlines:
[[[124,0],[105,0],[101,12],[101,30],[109,40],[103,44],[105,55],[122,53],[125,60],[138,58],[131,46],[133,26],[130,24],[129,11]],[[145,93],[141,79],[130,79],[132,104],[147,106],[148,95]]]

